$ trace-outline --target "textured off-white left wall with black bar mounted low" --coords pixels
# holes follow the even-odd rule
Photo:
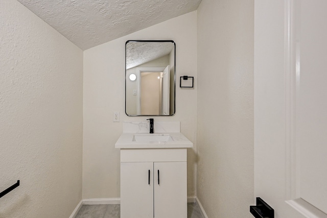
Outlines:
[[[0,1],[0,217],[68,217],[82,198],[83,52]]]

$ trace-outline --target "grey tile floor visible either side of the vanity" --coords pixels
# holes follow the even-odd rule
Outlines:
[[[83,205],[75,218],[120,218],[119,204]],[[204,218],[197,203],[188,203],[188,218]]]

